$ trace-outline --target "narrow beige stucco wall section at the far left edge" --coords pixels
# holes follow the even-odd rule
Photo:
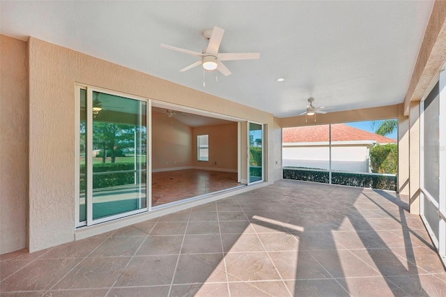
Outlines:
[[[0,254],[26,247],[28,71],[26,43],[0,36]]]

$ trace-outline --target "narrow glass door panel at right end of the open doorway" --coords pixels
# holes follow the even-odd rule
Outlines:
[[[263,181],[263,125],[249,123],[248,183]]]

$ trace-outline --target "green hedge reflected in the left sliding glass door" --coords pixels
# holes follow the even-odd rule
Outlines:
[[[133,170],[134,163],[98,163],[93,164],[93,172],[117,172],[124,170]],[[143,167],[145,169],[145,166]],[[85,165],[80,167],[81,177],[79,186],[81,189],[86,188]],[[146,182],[146,174],[142,176],[142,182]],[[134,183],[134,172],[123,172],[93,176],[93,189],[109,188],[116,185],[132,185]]]

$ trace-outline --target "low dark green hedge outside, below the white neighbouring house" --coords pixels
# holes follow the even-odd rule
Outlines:
[[[286,179],[295,179],[298,181],[314,181],[317,183],[329,183],[328,172],[285,168],[283,171],[283,176]],[[332,184],[396,191],[397,176],[332,172]]]

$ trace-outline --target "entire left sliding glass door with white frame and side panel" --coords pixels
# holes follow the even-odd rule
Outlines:
[[[79,87],[78,226],[147,210],[147,102]]]

